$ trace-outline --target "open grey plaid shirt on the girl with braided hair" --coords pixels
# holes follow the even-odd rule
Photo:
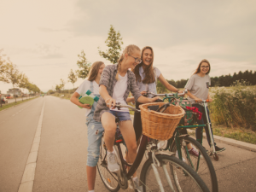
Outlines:
[[[102,72],[102,77],[100,80],[100,85],[104,85],[107,87],[109,96],[113,96],[113,87],[116,84],[117,80],[115,79],[117,73],[117,64],[109,65],[104,68]],[[127,89],[125,90],[124,100],[126,102],[127,97],[129,96],[129,93],[132,93],[135,100],[137,101],[138,97],[142,96],[140,93],[137,84],[136,84],[136,78],[134,73],[132,73],[130,70],[127,71]],[[106,102],[100,97],[100,100],[97,102],[96,110],[94,112],[93,119],[96,121],[100,121],[102,117],[102,113],[108,112],[109,108],[107,107]]]

